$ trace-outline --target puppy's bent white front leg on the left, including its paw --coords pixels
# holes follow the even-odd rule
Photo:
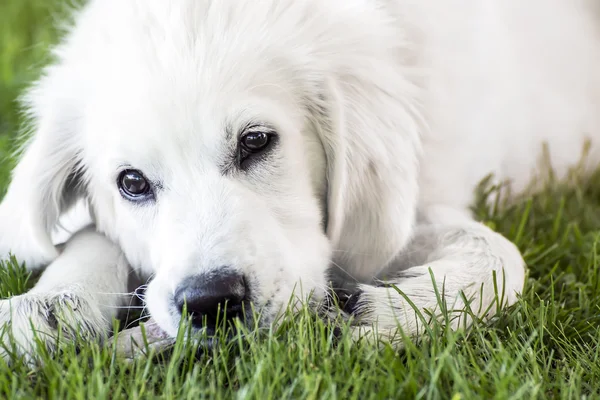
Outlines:
[[[31,356],[36,337],[52,350],[57,329],[62,337],[100,338],[125,304],[129,266],[118,246],[88,228],[75,234],[29,292],[0,301],[0,327],[6,346],[8,334],[17,352]],[[6,350],[0,354],[8,357]]]

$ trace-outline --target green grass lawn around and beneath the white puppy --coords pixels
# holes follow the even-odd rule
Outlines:
[[[0,194],[18,129],[14,100],[47,60],[59,0],[0,2]],[[598,398],[600,396],[600,175],[552,184],[481,219],[514,240],[530,266],[523,299],[467,332],[435,326],[402,351],[333,345],[332,329],[301,313],[277,332],[250,335],[194,357],[128,363],[111,348],[73,344],[43,365],[0,360],[0,398]],[[0,270],[0,296],[24,291],[19,269]]]

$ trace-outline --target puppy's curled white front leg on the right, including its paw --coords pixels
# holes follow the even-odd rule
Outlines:
[[[468,213],[437,207],[424,214],[410,246],[382,278],[382,285],[361,285],[345,308],[357,318],[358,335],[398,339],[398,327],[409,337],[423,334],[431,313],[441,320],[444,308],[456,329],[472,322],[465,310],[489,317],[513,304],[525,263],[513,243]]]

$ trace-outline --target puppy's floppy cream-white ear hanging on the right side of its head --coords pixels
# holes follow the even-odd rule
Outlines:
[[[327,235],[333,261],[368,279],[412,234],[421,124],[411,96],[417,88],[377,77],[325,86],[318,125],[328,166]],[[404,98],[390,94],[403,91]]]

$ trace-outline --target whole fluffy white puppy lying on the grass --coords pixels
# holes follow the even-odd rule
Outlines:
[[[429,269],[451,307],[490,315],[494,274],[512,304],[524,262],[472,219],[476,184],[523,190],[544,143],[561,176],[586,139],[600,162],[595,0],[92,0],[57,56],[0,205],[0,257],[50,263],[0,303],[25,350],[29,318],[52,333],[65,300],[106,333],[130,267],[155,277],[146,303],[170,334],[182,290],[243,276],[224,297],[269,323],[294,290],[322,297],[330,265],[363,333],[417,334],[374,283],[435,309]],[[238,149],[248,131],[268,152]],[[151,182],[143,203],[115,184],[131,170]],[[50,233],[82,199],[95,227],[59,254]]]

